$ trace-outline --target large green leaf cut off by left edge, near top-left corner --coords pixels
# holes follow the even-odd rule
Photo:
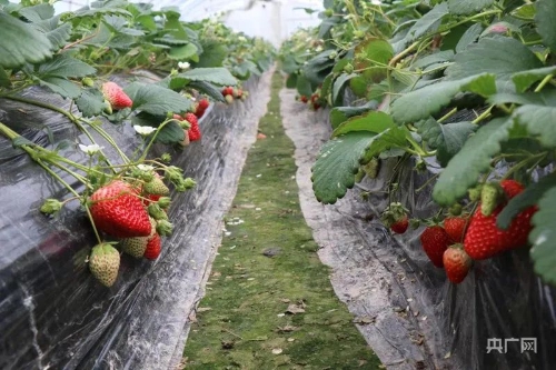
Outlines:
[[[0,11],[0,67],[39,63],[52,57],[52,43],[44,33]]]

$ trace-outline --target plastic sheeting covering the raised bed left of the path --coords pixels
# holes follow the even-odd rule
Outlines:
[[[159,259],[123,254],[111,288],[88,271],[86,259],[96,238],[85,213],[70,202],[72,208],[59,217],[41,214],[43,199],[62,198],[67,190],[0,137],[0,369],[152,370],[170,368],[172,356],[180,360],[183,327],[199,299],[205,268],[221,237],[221,220],[241,172],[245,138],[255,140],[257,121],[245,117],[247,111],[254,114],[254,104],[265,109],[259,81],[244,86],[251,97],[259,97],[255,102],[217,104],[200,121],[200,142],[170,150],[172,164],[195,178],[198,187],[172,196],[169,217],[175,232],[163,239]],[[58,107],[69,104],[37,89],[26,96]],[[57,113],[0,100],[0,121],[42,146],[48,139],[41,128],[48,126],[56,141],[76,143],[63,156],[87,160],[75,148],[87,138]],[[137,144],[129,124],[103,128],[128,152]],[[99,143],[110,148],[100,139]],[[159,156],[168,149],[155,151]],[[107,156],[118,158],[110,151]]]

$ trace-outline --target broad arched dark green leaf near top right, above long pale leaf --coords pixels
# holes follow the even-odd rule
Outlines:
[[[459,80],[485,72],[493,73],[502,88],[514,90],[512,76],[542,67],[538,58],[515,39],[483,38],[473,48],[456,54],[454,64],[446,69],[446,76],[448,80]]]

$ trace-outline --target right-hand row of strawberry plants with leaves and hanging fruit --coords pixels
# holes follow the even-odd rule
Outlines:
[[[324,4],[321,23],[280,51],[298,99],[330,107],[334,131],[312,167],[316,198],[336,202],[383,160],[417,171],[435,163],[438,214],[411,219],[397,202],[397,166],[383,189],[391,200],[385,224],[403,233],[426,223],[424,252],[453,282],[473,260],[532,244],[535,271],[556,284],[556,2]]]

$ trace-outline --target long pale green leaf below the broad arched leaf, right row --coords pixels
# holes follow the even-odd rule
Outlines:
[[[480,74],[458,81],[443,81],[405,93],[391,104],[398,123],[417,122],[448,106],[456,93],[471,91],[487,97],[496,92],[493,74]]]

